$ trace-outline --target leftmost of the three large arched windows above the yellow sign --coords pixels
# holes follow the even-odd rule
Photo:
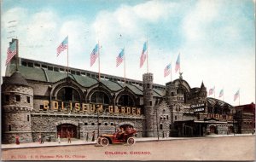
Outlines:
[[[57,99],[61,101],[80,101],[79,92],[71,87],[64,87],[59,90]]]

